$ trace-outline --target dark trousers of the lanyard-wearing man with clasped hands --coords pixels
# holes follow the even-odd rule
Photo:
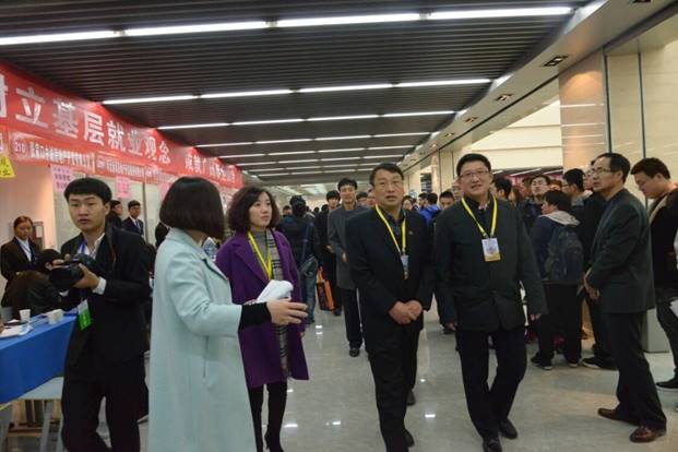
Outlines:
[[[386,452],[406,452],[405,413],[407,394],[417,377],[419,331],[399,326],[389,337],[368,343],[370,367],[374,379],[379,427]]]

